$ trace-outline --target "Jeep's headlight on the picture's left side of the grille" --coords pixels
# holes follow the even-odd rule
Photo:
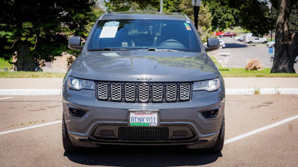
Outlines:
[[[82,90],[89,89],[95,90],[94,81],[83,80],[78,78],[69,77],[68,86],[71,89]]]

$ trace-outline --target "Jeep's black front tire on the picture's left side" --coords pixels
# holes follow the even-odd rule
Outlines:
[[[62,143],[63,148],[66,152],[76,152],[79,151],[81,147],[75,146],[72,144],[72,141],[70,141],[67,128],[64,121],[64,115],[62,117]]]

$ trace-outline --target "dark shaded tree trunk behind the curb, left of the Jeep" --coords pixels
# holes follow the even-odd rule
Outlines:
[[[27,42],[19,42],[17,44],[17,70],[18,71],[34,71],[34,56],[30,53],[29,44]]]

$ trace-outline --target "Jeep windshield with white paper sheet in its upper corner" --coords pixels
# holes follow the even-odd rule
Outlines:
[[[201,52],[198,38],[189,21],[153,19],[100,20],[87,49],[104,48]]]

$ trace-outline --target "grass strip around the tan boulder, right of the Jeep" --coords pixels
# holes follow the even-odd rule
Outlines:
[[[215,65],[217,65],[217,60],[214,56],[209,54],[212,61]],[[223,77],[298,77],[298,74],[295,73],[270,73],[270,68],[263,68],[262,71],[249,71],[245,68],[223,68],[221,64],[219,64],[219,72]]]

